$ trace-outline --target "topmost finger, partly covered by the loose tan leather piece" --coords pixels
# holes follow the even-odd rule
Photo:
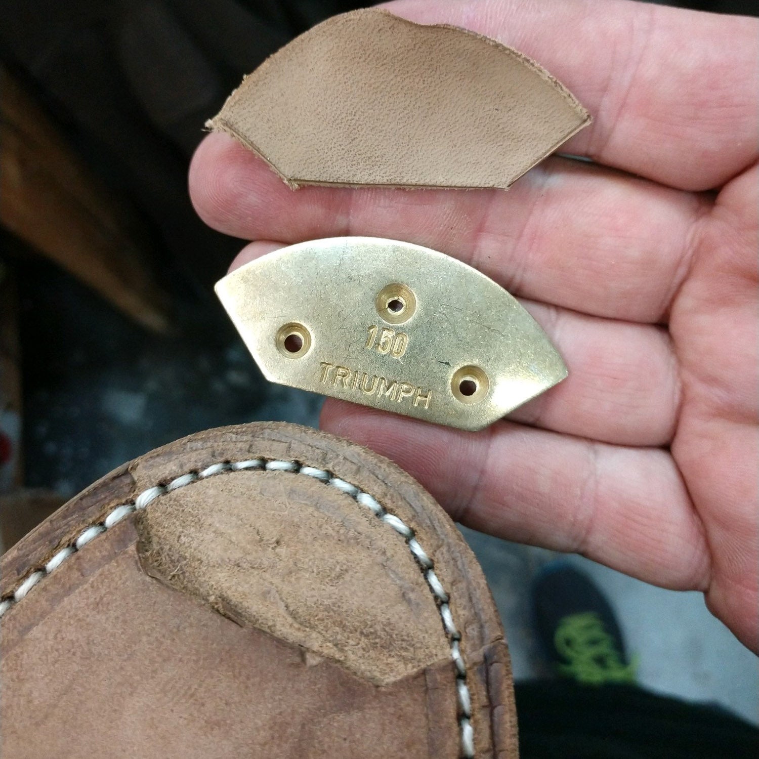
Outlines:
[[[626,0],[385,7],[493,37],[547,68],[595,120],[567,153],[688,190],[720,186],[757,159],[756,19]]]

